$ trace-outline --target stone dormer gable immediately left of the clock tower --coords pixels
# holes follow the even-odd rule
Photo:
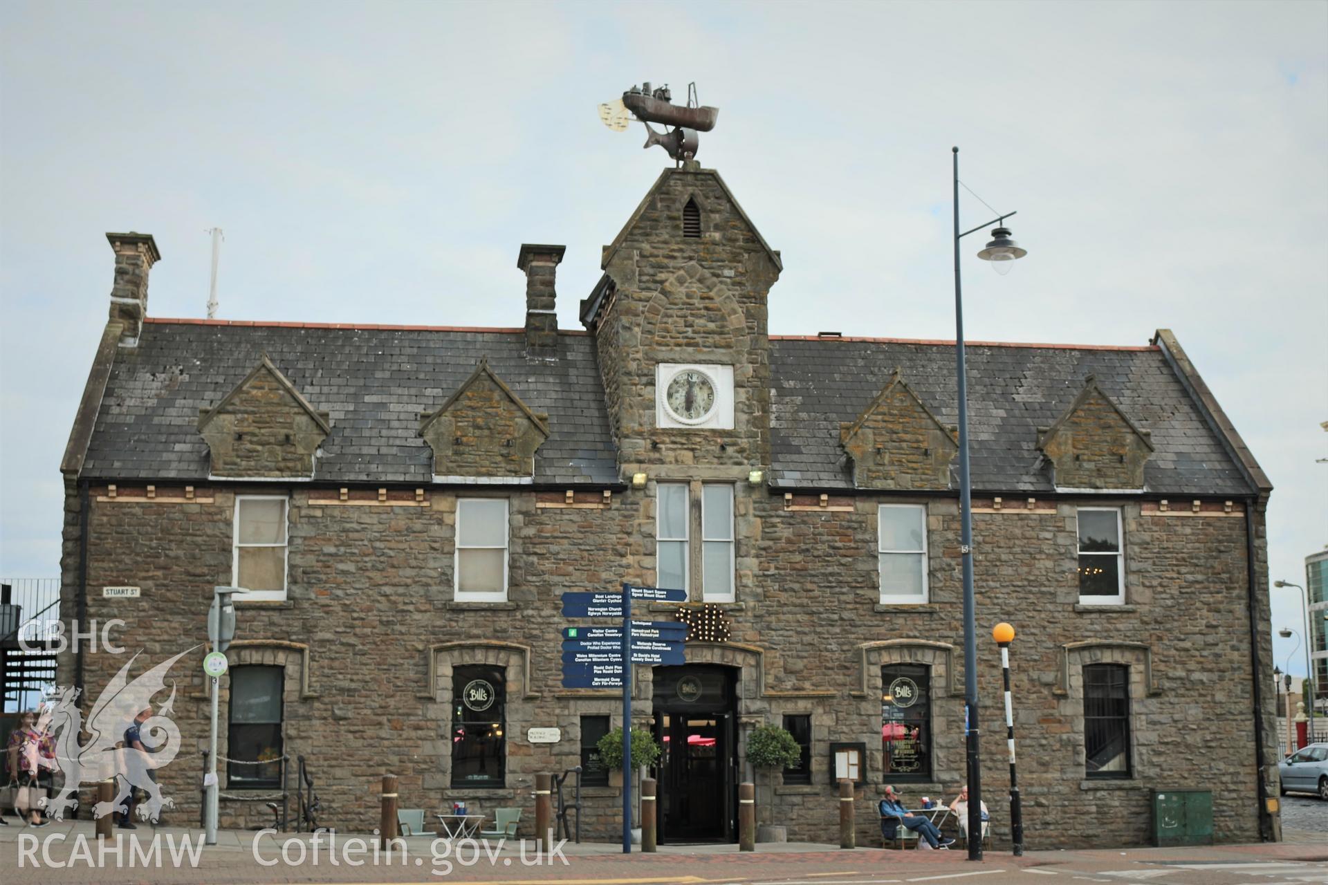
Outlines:
[[[442,406],[421,415],[420,435],[433,448],[434,476],[529,482],[548,415],[531,411],[482,357]]]

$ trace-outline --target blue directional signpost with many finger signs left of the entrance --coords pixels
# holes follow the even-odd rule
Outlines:
[[[563,687],[623,690],[623,853],[632,853],[632,665],[687,662],[687,625],[633,621],[632,600],[685,602],[687,590],[623,584],[622,593],[563,593],[564,618],[614,618],[622,626],[563,628]]]

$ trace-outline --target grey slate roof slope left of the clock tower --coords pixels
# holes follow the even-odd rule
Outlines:
[[[537,483],[618,483],[594,340],[562,334],[556,362],[527,362],[521,329],[329,328],[151,320],[121,348],[82,474],[206,479],[198,410],[215,406],[267,353],[329,415],[315,479],[429,483],[420,413],[432,411],[483,356],[552,435],[535,454]]]

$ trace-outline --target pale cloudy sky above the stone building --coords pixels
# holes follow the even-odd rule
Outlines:
[[[1146,344],[1175,330],[1276,490],[1272,579],[1328,544],[1328,4],[4,4],[0,577],[58,575],[60,456],[106,320],[106,231],[157,238],[149,313],[559,321],[659,171],[596,105],[695,81],[784,275],[770,332]],[[980,235],[965,243],[976,251]],[[1232,592],[1236,592],[1232,588]],[[1272,628],[1301,630],[1297,592]],[[1279,666],[1304,671],[1297,638]]]

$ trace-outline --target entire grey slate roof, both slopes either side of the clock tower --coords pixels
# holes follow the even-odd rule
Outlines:
[[[556,362],[527,362],[521,329],[150,320],[138,348],[116,354],[82,475],[206,479],[198,410],[215,406],[267,353],[315,409],[329,413],[316,480],[425,484],[432,458],[420,413],[445,402],[487,356],[531,410],[548,414],[535,483],[620,483],[594,338],[563,333],[559,344]],[[896,366],[942,423],[959,419],[948,342],[773,337],[770,362],[777,487],[853,487],[839,425],[858,418]],[[969,344],[975,490],[1053,491],[1037,429],[1061,417],[1089,374],[1151,431],[1146,491],[1254,491],[1159,348]],[[957,479],[951,484],[957,488]]]

